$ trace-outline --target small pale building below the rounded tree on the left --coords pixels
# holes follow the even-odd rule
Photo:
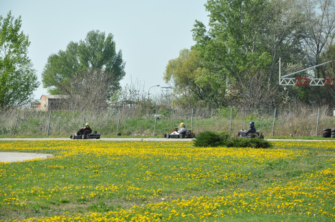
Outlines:
[[[65,109],[69,103],[71,103],[69,95],[42,95],[40,101],[34,101],[31,105],[34,109],[49,111]]]

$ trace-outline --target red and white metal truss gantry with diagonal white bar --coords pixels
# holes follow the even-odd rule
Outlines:
[[[332,65],[333,65],[333,76],[334,76],[334,60],[323,62],[322,64],[318,64],[316,66],[312,66],[310,68],[303,69],[301,71],[297,71],[294,73],[290,73],[288,75],[281,76],[281,61],[279,58],[279,85],[281,86],[335,86],[335,78],[289,77],[297,73],[301,73],[304,71],[308,71],[310,69],[314,69],[318,66],[323,66],[330,62],[332,62]]]

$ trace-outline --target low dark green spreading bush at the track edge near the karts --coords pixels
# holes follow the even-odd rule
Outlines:
[[[271,144],[262,138],[231,138],[227,132],[200,132],[195,140],[195,147],[253,147],[269,148]]]

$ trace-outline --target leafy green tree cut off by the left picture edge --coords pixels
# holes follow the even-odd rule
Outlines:
[[[21,29],[21,16],[0,16],[0,108],[25,105],[39,83],[27,56],[28,36]]]

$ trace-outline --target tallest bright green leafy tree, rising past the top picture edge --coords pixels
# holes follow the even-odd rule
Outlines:
[[[246,91],[246,72],[263,72],[269,66],[270,53],[262,35],[266,29],[266,0],[209,0],[209,30],[200,21],[193,29],[196,45],[201,51],[211,99],[218,106],[227,106],[233,97]],[[216,93],[221,92],[221,93]]]

